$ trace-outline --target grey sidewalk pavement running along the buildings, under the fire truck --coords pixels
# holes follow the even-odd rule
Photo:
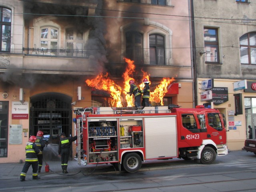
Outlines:
[[[238,151],[230,151],[228,155],[226,156],[217,156],[216,161],[214,164],[218,163],[230,163],[230,162],[243,162],[245,155],[251,155],[254,157],[253,153],[246,152],[244,150],[238,150]],[[182,161],[182,162],[180,162]],[[45,172],[45,163],[43,163],[41,173],[38,173],[38,176],[41,178],[52,178],[52,177],[59,177],[61,175],[73,175],[81,172],[83,174],[98,174],[98,173],[111,173],[116,172],[118,170],[115,170],[114,166],[111,164],[98,164],[96,165],[78,165],[78,162],[76,160],[69,160],[68,161],[68,174],[62,174],[62,168],[61,168],[61,162],[60,161],[50,161],[47,162],[50,171]],[[20,179],[20,172],[22,171],[22,168],[24,166],[23,163],[3,163],[0,164],[0,181],[6,180],[6,179]],[[172,160],[148,160],[144,163],[142,163],[142,168],[140,168],[139,171],[147,171],[147,170],[154,170],[154,169],[164,169],[164,168],[177,168],[177,166],[199,166],[199,164],[196,164],[191,161],[184,161],[182,159],[174,158]],[[27,178],[32,179],[32,166],[30,166]]]

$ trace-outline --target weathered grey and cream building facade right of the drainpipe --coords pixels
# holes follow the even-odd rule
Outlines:
[[[255,138],[256,131],[256,2],[191,2],[196,100],[211,103],[225,114],[228,148],[241,150],[244,140]],[[209,79],[213,88],[202,89]],[[206,90],[212,91],[212,99],[204,99]]]

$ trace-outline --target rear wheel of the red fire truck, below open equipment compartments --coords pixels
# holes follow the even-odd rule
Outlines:
[[[123,167],[128,173],[137,172],[142,164],[140,156],[136,153],[128,153],[124,156]]]

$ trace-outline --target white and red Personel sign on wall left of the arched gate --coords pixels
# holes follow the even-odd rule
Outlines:
[[[28,102],[12,102],[12,119],[28,119]]]

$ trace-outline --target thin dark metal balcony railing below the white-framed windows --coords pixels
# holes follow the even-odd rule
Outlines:
[[[45,49],[45,48],[22,48],[29,55],[83,57],[89,58],[86,51],[75,49]]]

